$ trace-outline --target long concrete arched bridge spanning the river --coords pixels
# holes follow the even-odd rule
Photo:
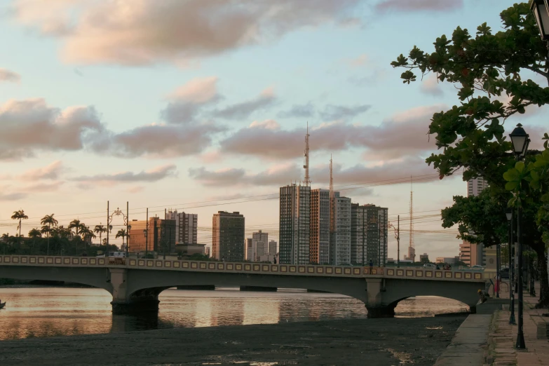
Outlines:
[[[0,256],[0,278],[59,280],[112,294],[114,313],[158,311],[158,294],[177,285],[258,286],[320,290],[364,302],[369,318],[393,317],[414,296],[456,299],[475,311],[484,273],[423,267],[377,268],[194,262],[137,258]]]

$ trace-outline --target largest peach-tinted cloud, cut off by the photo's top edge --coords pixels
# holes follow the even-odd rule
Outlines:
[[[338,25],[360,0],[17,0],[15,19],[63,39],[80,64],[181,64],[271,43],[304,27]]]

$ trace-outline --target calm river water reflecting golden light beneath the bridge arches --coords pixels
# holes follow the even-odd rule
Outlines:
[[[364,304],[339,294],[302,290],[240,292],[165,290],[154,316],[115,316],[111,295],[101,289],[72,287],[0,288],[0,339],[101,334],[175,327],[272,324],[366,318]],[[416,318],[466,311],[459,301],[416,297],[400,301],[396,316]]]

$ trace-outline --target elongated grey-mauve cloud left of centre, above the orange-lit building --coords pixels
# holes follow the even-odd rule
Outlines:
[[[121,158],[189,156],[207,149],[212,135],[225,128],[212,123],[141,126],[123,133],[100,136],[92,148],[98,154]]]

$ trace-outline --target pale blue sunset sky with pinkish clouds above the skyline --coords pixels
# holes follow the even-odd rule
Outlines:
[[[416,253],[458,255],[440,210],[466,183],[424,162],[431,116],[456,91],[431,75],[403,84],[390,63],[458,26],[499,29],[514,2],[0,0],[0,232],[20,209],[25,236],[51,213],[93,228],[109,201],[130,219],[196,213],[208,245],[218,210],[278,240],[278,189],[304,179],[309,123],[313,189],[332,156],[342,196],[400,215],[403,255],[412,176]],[[535,108],[526,128],[543,124]]]

